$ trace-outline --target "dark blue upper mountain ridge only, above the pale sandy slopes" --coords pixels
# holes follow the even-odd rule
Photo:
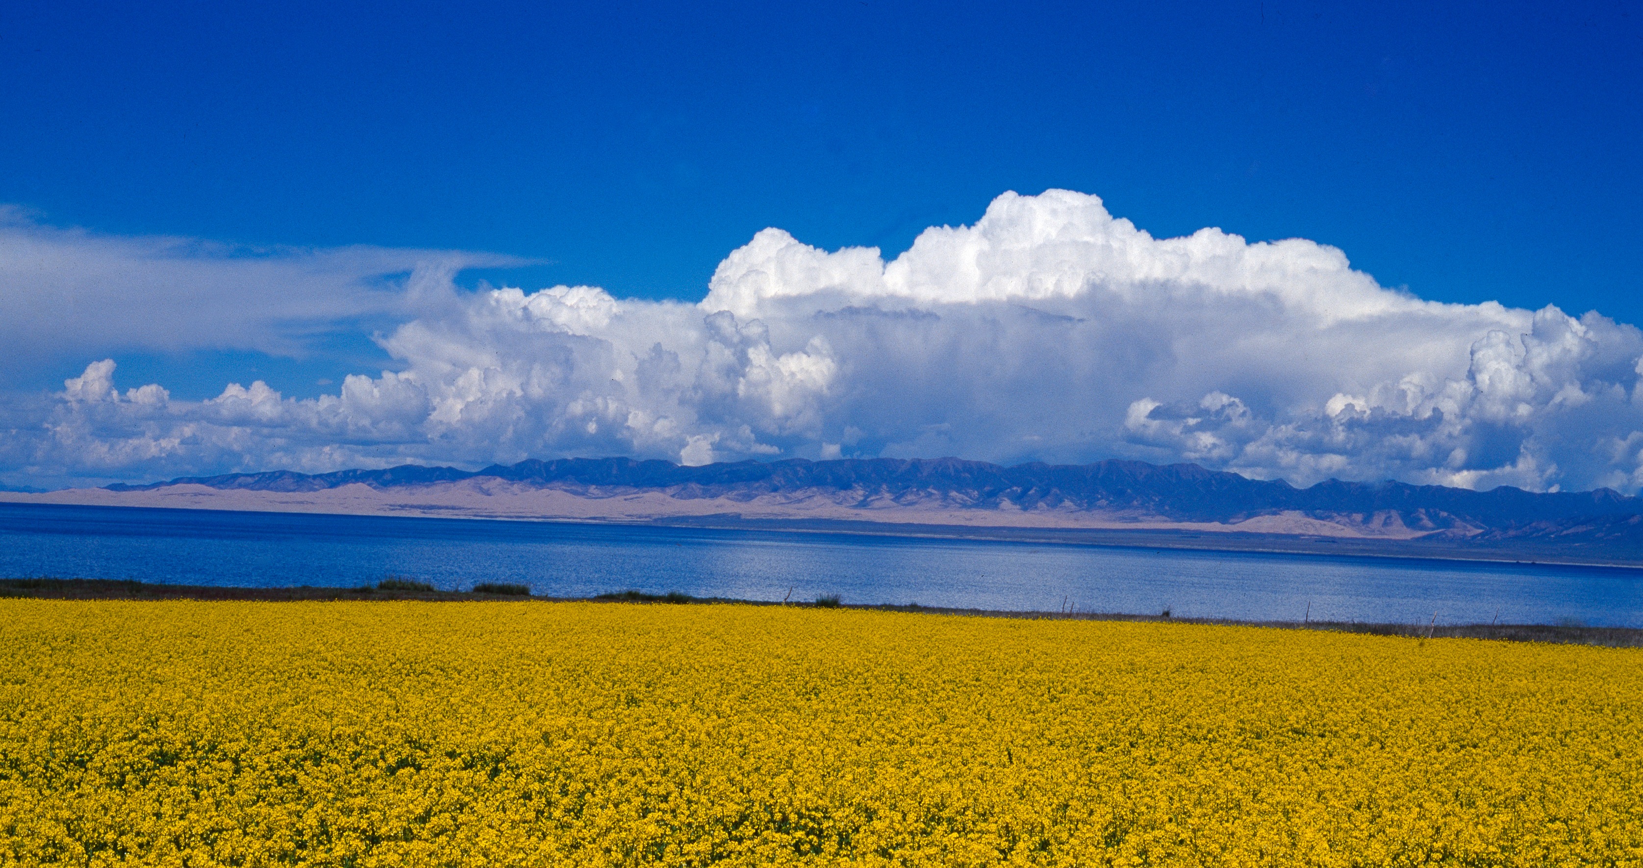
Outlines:
[[[292,471],[179,477],[148,486],[107,486],[115,492],[196,484],[223,491],[314,492],[348,484],[373,489],[496,479],[575,494],[611,489],[660,491],[674,499],[752,500],[761,496],[825,491],[849,504],[930,504],[979,510],[1091,510],[1173,522],[1237,523],[1262,515],[1301,514],[1329,522],[1397,522],[1411,533],[1447,537],[1536,537],[1599,533],[1643,540],[1643,499],[1612,489],[1538,494],[1510,486],[1492,491],[1405,482],[1331,479],[1298,489],[1285,481],[1247,479],[1198,464],[1098,461],[1004,468],[958,458],[739,461],[687,468],[631,458],[529,459],[480,471],[404,464],[398,468],[302,474]]]

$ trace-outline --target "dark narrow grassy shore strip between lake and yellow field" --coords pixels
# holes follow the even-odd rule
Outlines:
[[[1272,627],[1280,630],[1326,630],[1339,633],[1367,633],[1408,638],[1485,638],[1500,642],[1546,642],[1556,645],[1599,645],[1607,648],[1643,646],[1643,630],[1635,627],[1585,627],[1571,624],[1365,624],[1342,620],[1232,620],[1185,619],[1163,615],[1127,615],[1117,612],[1017,612],[996,609],[948,609],[938,605],[861,605],[845,604],[838,596],[817,597],[805,602],[743,601],[728,597],[692,597],[679,591],[646,594],[642,591],[618,591],[595,597],[537,597],[522,584],[480,582],[473,591],[439,591],[432,584],[389,576],[373,586],[361,587],[217,587],[204,584],[151,584],[118,579],[0,579],[0,597],[74,599],[74,601],[476,601],[496,597],[527,597],[544,602],[641,602],[641,604],[738,604],[738,605],[802,605],[815,609],[869,609],[881,612],[922,612],[935,615],[971,615],[1024,620],[1135,620],[1170,624],[1226,624],[1244,627]]]

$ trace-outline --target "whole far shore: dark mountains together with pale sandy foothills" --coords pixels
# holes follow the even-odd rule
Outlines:
[[[1124,545],[1331,550],[1643,564],[1643,499],[1612,489],[1469,491],[1331,479],[1295,487],[1198,464],[999,466],[956,458],[680,466],[568,458],[478,471],[406,464],[179,477],[145,486],[0,492],[0,500],[662,522],[1001,535]],[[1196,541],[1188,540],[1213,540]]]

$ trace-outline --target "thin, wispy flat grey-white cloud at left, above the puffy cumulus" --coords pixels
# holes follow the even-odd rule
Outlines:
[[[0,374],[108,351],[302,353],[365,317],[404,317],[452,274],[519,259],[430,249],[251,248],[43,226],[0,207]]]

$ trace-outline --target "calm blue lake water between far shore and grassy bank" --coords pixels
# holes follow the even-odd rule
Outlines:
[[[0,504],[0,576],[1643,627],[1643,571],[991,540]]]

